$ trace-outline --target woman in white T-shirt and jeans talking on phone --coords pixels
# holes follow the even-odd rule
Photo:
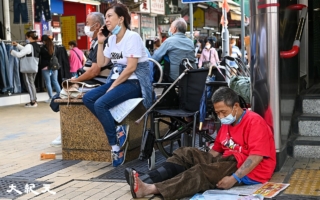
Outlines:
[[[98,118],[112,147],[112,165],[124,163],[128,126],[116,127],[110,108],[132,98],[143,97],[143,105],[152,103],[152,87],[149,78],[148,56],[141,37],[130,30],[131,17],[125,5],[116,3],[106,11],[106,27],[112,35],[108,48],[103,51],[102,29],[98,32],[97,64],[105,66],[111,61],[113,68],[106,84],[87,92],[85,106]]]

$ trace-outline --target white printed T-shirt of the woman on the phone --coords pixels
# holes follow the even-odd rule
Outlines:
[[[136,32],[127,30],[119,43],[116,43],[116,35],[112,35],[109,37],[108,45],[109,47],[104,50],[104,56],[110,58],[113,64],[127,65],[128,57],[138,58],[138,63],[148,61],[143,41]],[[117,79],[119,77],[117,67],[113,67],[113,72],[111,79]],[[137,79],[137,76],[133,73],[128,79]]]

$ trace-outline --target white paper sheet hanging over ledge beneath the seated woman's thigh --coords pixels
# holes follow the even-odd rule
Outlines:
[[[111,115],[118,123],[122,120],[143,100],[143,98],[129,99],[110,109]]]

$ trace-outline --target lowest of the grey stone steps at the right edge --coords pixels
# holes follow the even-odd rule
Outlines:
[[[299,136],[293,142],[294,158],[320,158],[320,136]]]

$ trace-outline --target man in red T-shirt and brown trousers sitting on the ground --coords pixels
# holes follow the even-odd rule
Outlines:
[[[165,199],[178,199],[208,189],[264,183],[271,178],[276,166],[271,128],[260,115],[243,110],[238,95],[230,88],[218,89],[212,102],[222,123],[212,149],[179,148],[160,168],[143,177],[127,168],[133,197],[161,194]]]

